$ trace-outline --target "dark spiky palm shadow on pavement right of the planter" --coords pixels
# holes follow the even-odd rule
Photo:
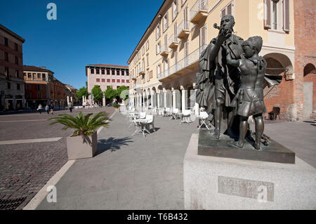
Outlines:
[[[121,145],[129,145],[128,143],[133,142],[130,137],[125,138],[107,138],[98,140],[98,150],[96,156],[107,150],[116,151],[121,149]]]

